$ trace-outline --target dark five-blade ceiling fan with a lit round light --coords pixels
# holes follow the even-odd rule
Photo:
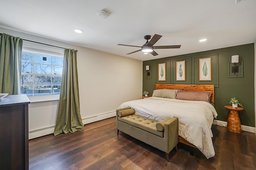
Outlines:
[[[128,54],[132,54],[132,53],[136,53],[138,51],[142,51],[143,53],[151,53],[152,55],[156,56],[158,55],[158,53],[156,53],[156,51],[154,51],[154,49],[178,49],[180,48],[181,45],[161,45],[161,46],[153,46],[160,38],[162,37],[162,35],[158,35],[155,34],[152,39],[148,42],[148,40],[151,38],[150,35],[145,35],[144,39],[147,40],[147,42],[140,46],[136,46],[136,45],[125,45],[125,44],[118,44],[118,45],[123,45],[123,46],[128,46],[128,47],[140,47],[141,49],[133,51],[131,53]]]

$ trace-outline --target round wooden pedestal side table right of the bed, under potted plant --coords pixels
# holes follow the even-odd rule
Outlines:
[[[224,106],[229,109],[227,130],[234,133],[242,133],[241,122],[238,115],[238,111],[243,110],[242,107]]]

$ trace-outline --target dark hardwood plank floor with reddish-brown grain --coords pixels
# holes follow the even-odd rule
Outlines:
[[[178,144],[165,153],[125,133],[116,135],[115,117],[85,125],[84,131],[46,135],[29,141],[30,170],[255,170],[256,136],[212,125],[215,156]],[[194,156],[190,152],[194,152]]]

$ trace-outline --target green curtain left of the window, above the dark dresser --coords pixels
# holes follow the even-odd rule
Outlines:
[[[20,94],[22,39],[3,33],[0,43],[0,93]]]

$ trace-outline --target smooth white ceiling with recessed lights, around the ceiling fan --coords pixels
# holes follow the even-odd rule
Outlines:
[[[0,0],[0,26],[138,60],[256,41],[256,0]],[[106,10],[110,16],[100,18]],[[84,33],[74,32],[75,28]],[[157,56],[136,51],[144,35],[163,37]],[[206,38],[205,42],[198,40]]]

